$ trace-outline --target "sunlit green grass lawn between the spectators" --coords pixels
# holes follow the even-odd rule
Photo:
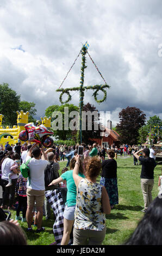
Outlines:
[[[119,190],[119,205],[116,205],[111,214],[107,215],[107,233],[103,245],[121,245],[133,233],[136,225],[144,214],[144,200],[140,186],[141,166],[133,165],[133,157],[117,157],[117,180]],[[60,170],[66,166],[66,161],[60,162]],[[153,199],[158,195],[158,178],[161,175],[161,165],[154,169]],[[99,178],[98,178],[99,181]],[[16,212],[11,211],[11,218]],[[52,215],[53,216],[53,215]],[[27,223],[19,222],[26,230]],[[54,242],[53,220],[43,217],[43,233],[26,233],[28,245],[49,245]],[[36,229],[36,228],[33,228]]]

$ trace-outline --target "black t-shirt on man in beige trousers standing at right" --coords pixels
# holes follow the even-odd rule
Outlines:
[[[154,178],[154,168],[157,165],[155,160],[151,157],[139,157],[139,161],[142,163],[141,169],[141,179],[153,179]]]

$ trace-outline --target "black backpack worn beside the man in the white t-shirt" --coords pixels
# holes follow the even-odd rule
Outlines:
[[[47,164],[45,168],[45,187],[47,187],[53,180],[59,178],[58,171],[54,167],[54,162]]]

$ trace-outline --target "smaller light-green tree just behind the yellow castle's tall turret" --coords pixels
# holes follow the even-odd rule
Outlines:
[[[34,115],[36,114],[36,108],[34,102],[28,102],[28,101],[20,101],[18,110],[23,112],[29,112],[29,123],[35,123],[36,119],[34,118]]]

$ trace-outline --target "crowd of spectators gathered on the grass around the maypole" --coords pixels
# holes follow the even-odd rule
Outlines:
[[[27,222],[27,232],[33,231],[33,216],[37,227],[35,231],[39,233],[45,230],[42,227],[43,205],[46,220],[51,218],[51,206],[45,197],[45,191],[66,187],[61,245],[68,245],[72,229],[73,245],[101,245],[106,232],[105,215],[110,214],[114,205],[119,204],[115,154],[125,157],[133,155],[134,164],[137,161],[141,163],[141,188],[145,205],[143,211],[146,213],[149,209],[156,166],[153,148],[139,149],[136,145],[131,147],[128,144],[117,147],[112,144],[105,149],[96,143],[82,143],[82,146],[83,155],[79,156],[79,144],[70,147],[54,145],[48,149],[36,143],[16,143],[15,146],[7,143],[4,148],[1,145],[1,208],[16,210],[15,220]],[[59,161],[65,159],[66,167],[59,175]],[[24,162],[30,169],[30,179],[24,178],[20,172],[20,165]],[[101,176],[99,183],[98,175]],[[15,196],[17,207],[14,205]]]

